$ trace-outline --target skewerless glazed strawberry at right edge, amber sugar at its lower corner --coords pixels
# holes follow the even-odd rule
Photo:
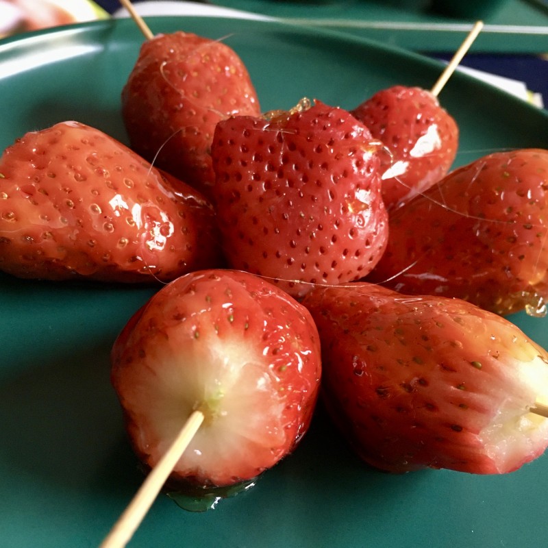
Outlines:
[[[547,212],[548,151],[479,158],[391,214],[386,253],[368,280],[543,315]]]

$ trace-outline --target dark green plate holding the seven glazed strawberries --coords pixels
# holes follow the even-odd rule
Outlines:
[[[375,42],[275,23],[154,18],[154,32],[223,38],[262,108],[302,96],[352,108],[392,84],[428,87],[441,65]],[[120,92],[142,36],[99,21],[0,42],[0,147],[77,119],[125,140]],[[457,163],[548,148],[548,114],[465,75],[441,100],[458,121]],[[142,482],[109,382],[109,351],[157,288],[0,277],[0,546],[99,545]],[[513,318],[548,346],[548,320]],[[510,475],[387,475],[362,464],[321,412],[297,451],[251,490],[205,513],[161,495],[131,547],[523,548],[548,545],[548,456]]]

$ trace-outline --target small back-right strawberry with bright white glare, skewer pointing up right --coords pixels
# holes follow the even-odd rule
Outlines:
[[[427,90],[384,89],[351,113],[386,147],[382,195],[388,209],[438,182],[455,160],[458,126]]]

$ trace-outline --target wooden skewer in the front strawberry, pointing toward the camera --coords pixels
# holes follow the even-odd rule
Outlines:
[[[201,411],[192,412],[175,441],[147,475],[145,481],[142,482],[134,498],[129,502],[118,521],[114,523],[110,533],[105,537],[99,548],[123,548],[127,545],[141,521],[145,518],[155,498],[158,497],[158,493],[160,493],[166,479],[173,471],[173,467],[181,458],[196,432],[198,432],[203,419]]]

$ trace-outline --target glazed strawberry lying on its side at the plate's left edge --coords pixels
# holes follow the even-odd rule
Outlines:
[[[219,264],[199,192],[77,122],[29,132],[0,158],[0,269],[24,278],[169,280]]]

